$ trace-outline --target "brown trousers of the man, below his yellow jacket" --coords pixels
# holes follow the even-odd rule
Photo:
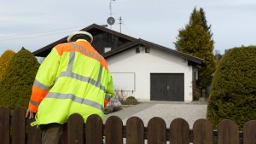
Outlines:
[[[40,125],[40,129],[42,130],[42,144],[61,144],[62,124],[44,124]]]

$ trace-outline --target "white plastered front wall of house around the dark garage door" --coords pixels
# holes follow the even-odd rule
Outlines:
[[[183,73],[184,101],[192,101],[192,66],[188,66],[187,60],[151,48],[150,53],[145,53],[145,49],[140,53],[136,53],[136,49],[128,49],[107,61],[110,72],[135,73],[133,95],[138,101],[150,101],[150,73]]]

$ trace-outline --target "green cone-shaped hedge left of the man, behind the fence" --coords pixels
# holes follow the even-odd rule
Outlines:
[[[28,106],[38,67],[38,60],[24,48],[13,56],[0,81],[0,106],[10,110]]]

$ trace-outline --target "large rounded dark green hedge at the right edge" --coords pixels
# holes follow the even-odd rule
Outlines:
[[[217,128],[224,119],[242,126],[256,119],[256,46],[230,49],[219,61],[207,107]]]

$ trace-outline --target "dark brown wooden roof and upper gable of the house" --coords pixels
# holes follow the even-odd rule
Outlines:
[[[177,50],[169,49],[155,43],[150,43],[141,38],[137,39],[134,37],[130,37],[123,33],[110,30],[104,26],[92,24],[85,27],[84,29],[81,29],[80,31],[90,32],[93,35],[94,40],[91,45],[106,59],[108,59],[108,57],[112,57],[114,55],[118,55],[119,53],[125,52],[125,50],[127,49],[145,47],[149,49],[149,51],[151,48],[154,48],[171,55],[177,55],[185,60],[188,60],[189,66],[203,65],[203,60],[201,58],[187,55]],[[67,43],[67,37],[63,37],[60,40],[55,41],[54,43],[50,43],[42,49],[34,51],[33,55],[46,57],[47,55],[49,55],[51,49],[55,47],[55,45],[60,43]],[[110,51],[106,53],[106,49]]]

